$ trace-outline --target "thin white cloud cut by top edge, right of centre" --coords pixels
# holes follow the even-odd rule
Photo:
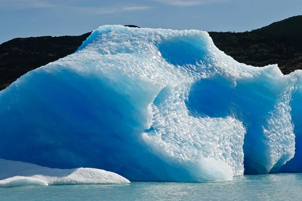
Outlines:
[[[192,1],[185,1],[185,0],[153,0],[155,2],[160,2],[166,5],[171,6],[196,6],[196,5],[206,5],[206,4],[213,4],[213,3],[221,3],[221,2],[230,2],[231,0],[192,0]]]

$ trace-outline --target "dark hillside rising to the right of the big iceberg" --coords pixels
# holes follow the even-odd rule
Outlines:
[[[302,69],[302,16],[243,33],[209,32],[215,45],[239,62],[279,65],[284,74]]]

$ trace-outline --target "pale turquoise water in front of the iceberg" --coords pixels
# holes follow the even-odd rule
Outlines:
[[[302,174],[234,177],[229,182],[131,182],[0,188],[0,200],[302,200]]]

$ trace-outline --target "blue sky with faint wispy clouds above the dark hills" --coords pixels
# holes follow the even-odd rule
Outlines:
[[[302,0],[0,0],[0,44],[106,24],[244,32],[296,15]]]

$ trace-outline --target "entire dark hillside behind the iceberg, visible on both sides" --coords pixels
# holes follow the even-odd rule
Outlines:
[[[220,50],[239,62],[253,66],[277,63],[284,74],[302,69],[302,16],[251,32],[209,34]],[[16,38],[1,44],[0,90],[26,72],[73,53],[89,35]]]

